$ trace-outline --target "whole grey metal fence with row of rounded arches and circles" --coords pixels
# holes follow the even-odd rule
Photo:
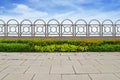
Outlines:
[[[10,19],[5,22],[0,19],[0,36],[120,36],[120,20],[113,22],[106,19],[100,22],[92,19],[87,23],[83,19],[75,22],[70,19],[65,19],[62,22],[56,19],[51,19],[48,22],[42,19],[37,19],[34,22],[28,19],[21,22]]]

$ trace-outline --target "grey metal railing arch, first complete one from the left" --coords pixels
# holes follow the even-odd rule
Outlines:
[[[15,19],[10,19],[7,22],[7,36],[19,36],[19,22]]]

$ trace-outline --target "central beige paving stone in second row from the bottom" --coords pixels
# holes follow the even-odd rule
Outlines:
[[[58,65],[55,65],[55,66],[52,66],[52,69],[51,69],[51,74],[74,74],[74,70],[72,68],[72,66],[58,66]]]

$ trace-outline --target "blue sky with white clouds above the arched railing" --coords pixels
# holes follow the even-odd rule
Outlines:
[[[1,19],[120,18],[120,0],[1,0]]]

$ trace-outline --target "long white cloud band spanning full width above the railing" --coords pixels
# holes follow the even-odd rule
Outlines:
[[[85,0],[84,0],[85,1]],[[49,19],[58,19],[58,20],[63,20],[63,19],[71,19],[72,21],[76,21],[77,19],[85,19],[87,21],[91,19],[98,19],[100,21],[103,21],[105,19],[111,19],[113,21],[117,20],[120,18],[119,14],[120,11],[109,11],[109,12],[104,12],[102,10],[97,10],[97,9],[90,9],[90,10],[84,10],[82,7],[77,7],[76,5],[71,4],[76,10],[69,11],[69,12],[63,12],[63,13],[54,13],[53,14],[48,14],[47,12],[42,12],[39,10],[35,10],[33,8],[28,7],[27,5],[23,4],[14,4],[16,7],[12,10],[9,10],[8,12],[12,12],[17,15],[1,15],[0,18],[4,20],[8,19],[17,19],[17,20],[23,20],[23,19],[31,19],[31,20],[36,20],[38,18],[42,18],[44,20],[49,20]]]

